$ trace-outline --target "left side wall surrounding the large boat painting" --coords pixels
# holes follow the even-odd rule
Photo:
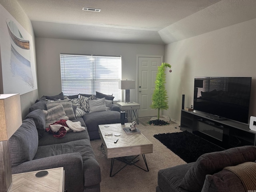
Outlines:
[[[16,2],[16,0],[0,0],[0,4],[4,6],[4,8],[27,30],[27,32],[32,36],[33,42],[35,42],[34,31],[32,28],[32,24],[24,12],[24,10],[20,7],[20,5]],[[35,45],[34,45],[34,53],[36,53]],[[1,64],[1,62],[0,62]],[[35,58],[36,64],[36,58]],[[1,77],[2,79],[2,74]],[[34,104],[35,100],[38,98],[38,90],[34,90],[28,92],[26,94],[22,94],[20,96],[21,102],[21,110],[22,110],[22,118],[24,118],[28,114],[28,108]]]

